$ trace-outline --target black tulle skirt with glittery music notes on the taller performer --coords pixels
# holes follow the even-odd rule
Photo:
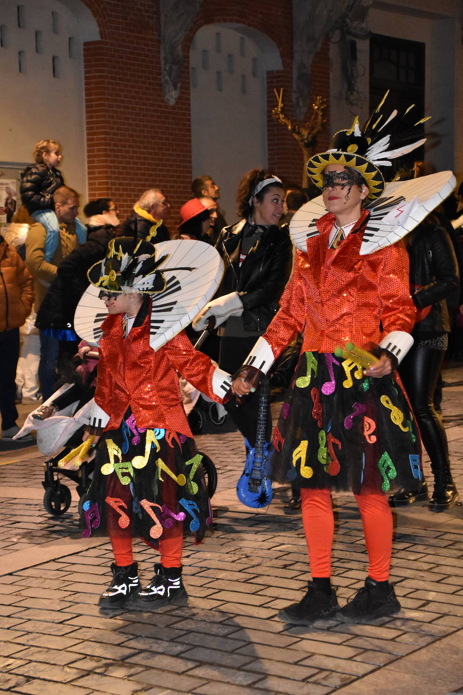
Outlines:
[[[419,432],[401,386],[393,375],[364,377],[334,354],[301,355],[273,446],[271,477],[296,488],[359,494],[421,485]]]

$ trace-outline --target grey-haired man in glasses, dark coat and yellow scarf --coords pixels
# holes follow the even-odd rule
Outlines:
[[[133,212],[128,216],[122,227],[123,236],[133,236],[135,226],[139,239],[146,239],[150,230],[159,220],[165,220],[169,215],[170,205],[160,188],[148,188],[133,206]],[[160,224],[151,243],[169,241],[170,234],[165,224]]]

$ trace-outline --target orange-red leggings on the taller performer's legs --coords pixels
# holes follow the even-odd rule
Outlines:
[[[389,578],[392,554],[392,512],[384,494],[355,495],[367,546],[368,574],[376,582]],[[301,489],[302,521],[312,577],[331,576],[335,530],[329,490]]]

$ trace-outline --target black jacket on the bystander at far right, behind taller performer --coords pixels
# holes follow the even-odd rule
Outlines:
[[[451,329],[447,301],[460,293],[455,250],[445,229],[436,224],[419,224],[407,236],[410,256],[410,291],[418,309],[430,312],[416,323],[413,334],[444,332]]]

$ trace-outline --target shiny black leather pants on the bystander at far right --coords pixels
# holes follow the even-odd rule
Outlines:
[[[434,408],[434,392],[445,353],[446,350],[412,347],[399,368],[434,475],[449,470],[446,431]]]

